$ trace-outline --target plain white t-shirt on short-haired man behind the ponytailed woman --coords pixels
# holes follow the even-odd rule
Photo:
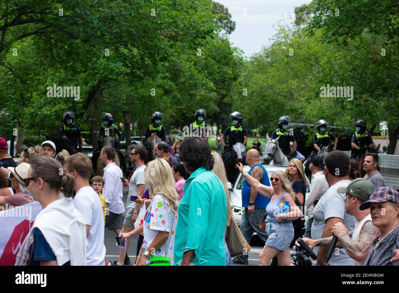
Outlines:
[[[97,193],[90,186],[79,189],[73,199],[73,205],[82,214],[85,224],[90,225],[87,237],[87,265],[105,265],[104,214]]]

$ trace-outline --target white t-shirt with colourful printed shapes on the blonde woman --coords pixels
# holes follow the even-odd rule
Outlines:
[[[174,221],[173,221],[174,218]],[[173,222],[173,227],[172,227]],[[151,245],[154,241],[155,236],[158,235],[158,231],[167,231],[169,233],[168,239],[165,240],[164,244],[156,250],[150,256],[167,256],[170,258],[170,265],[174,265],[174,237],[177,224],[177,214],[174,214],[172,208],[166,205],[164,197],[162,195],[155,195],[152,199],[151,205],[148,206],[146,214],[144,215],[144,227],[143,227],[143,252]],[[172,238],[171,238],[172,237]],[[170,238],[170,240],[169,240]],[[169,243],[169,247],[167,248]],[[168,255],[166,250],[168,249]],[[149,264],[150,261],[147,261]]]

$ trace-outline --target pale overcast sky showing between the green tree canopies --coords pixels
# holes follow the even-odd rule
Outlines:
[[[276,24],[285,19],[288,14],[295,19],[294,7],[310,3],[310,0],[215,0],[229,9],[235,31],[229,35],[231,43],[244,51],[250,57],[253,53],[261,51],[262,45],[269,45],[271,38],[276,33]],[[247,16],[244,16],[244,9]]]

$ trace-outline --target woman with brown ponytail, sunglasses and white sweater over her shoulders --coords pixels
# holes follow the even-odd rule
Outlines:
[[[24,180],[43,210],[18,252],[16,265],[86,265],[86,225],[72,203],[73,178],[59,170],[61,164],[51,157],[30,161]],[[60,199],[60,192],[65,198]]]

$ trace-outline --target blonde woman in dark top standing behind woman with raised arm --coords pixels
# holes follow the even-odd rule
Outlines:
[[[288,178],[291,180],[292,190],[294,191],[296,196],[295,203],[297,206],[302,207],[302,210],[304,210],[306,187],[308,186],[308,183],[305,179],[302,162],[299,159],[292,159],[288,163],[288,167],[285,172]],[[295,240],[298,237],[303,236],[303,223],[301,219],[297,219],[295,221],[292,221],[292,225],[294,225],[294,239],[291,242],[291,246],[294,246]]]

